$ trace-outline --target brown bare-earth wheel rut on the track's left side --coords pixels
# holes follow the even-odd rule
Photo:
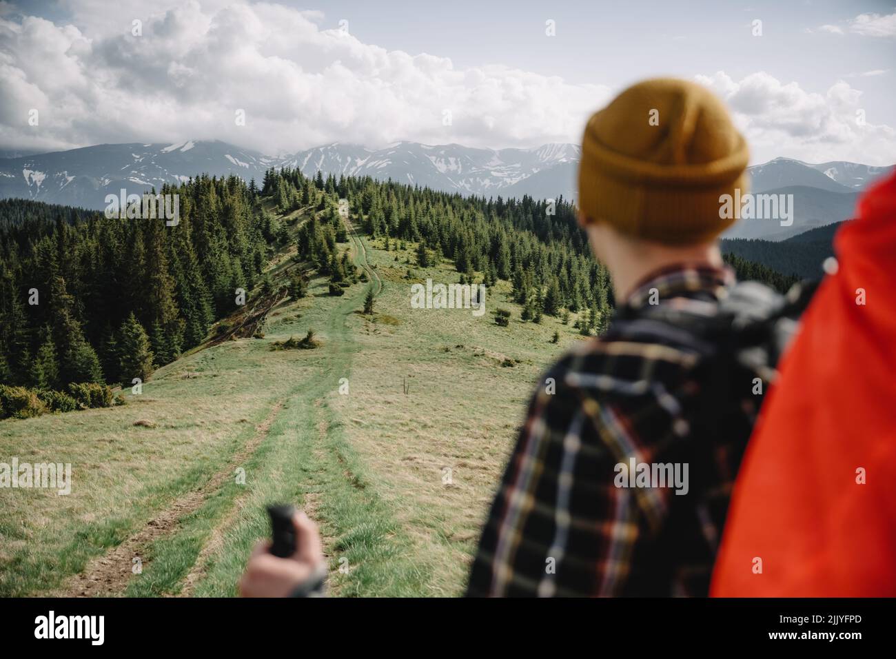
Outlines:
[[[220,488],[234,470],[252,455],[267,436],[271,423],[277,417],[283,403],[274,405],[271,413],[255,427],[252,439],[235,454],[227,467],[215,473],[199,490],[188,492],[176,499],[171,506],[153,517],[142,530],[134,533],[125,542],[117,545],[103,556],[93,559],[84,570],[74,575],[57,593],[63,597],[116,596],[124,594],[128,581],[133,576],[134,558],[139,558],[145,566],[145,557],[152,542],[163,535],[177,531],[179,521],[202,506],[205,499]],[[199,561],[197,561],[197,564]]]

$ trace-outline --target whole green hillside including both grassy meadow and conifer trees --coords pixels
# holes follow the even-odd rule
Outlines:
[[[0,225],[0,386],[31,396],[0,455],[73,478],[0,489],[0,594],[234,595],[271,501],[317,520],[333,594],[460,594],[539,374],[611,312],[573,208],[289,170],[176,189],[170,231]],[[487,284],[483,313],[415,308],[427,280]],[[40,407],[83,372],[124,404]]]

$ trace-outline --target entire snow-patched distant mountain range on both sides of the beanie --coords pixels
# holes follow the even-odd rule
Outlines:
[[[261,183],[265,169],[293,167],[336,176],[371,176],[462,195],[575,198],[580,148],[551,143],[536,149],[473,149],[460,144],[401,142],[383,149],[332,143],[282,157],[219,141],[99,144],[65,152],[0,151],[0,198],[20,197],[85,208],[105,207],[121,188],[141,193],[200,173],[237,174]],[[13,155],[15,157],[4,157]],[[849,218],[857,193],[887,169],[852,162],[810,164],[776,158],[749,168],[752,191],[794,195],[790,227],[739,221],[726,238],[783,240]]]

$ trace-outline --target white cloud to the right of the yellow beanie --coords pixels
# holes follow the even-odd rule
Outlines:
[[[737,82],[723,71],[696,79],[728,103],[754,162],[786,155],[809,162],[893,163],[896,131],[867,116],[862,92],[847,82],[836,82],[822,94],[764,72]]]

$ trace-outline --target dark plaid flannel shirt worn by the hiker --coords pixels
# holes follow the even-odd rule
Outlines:
[[[615,325],[621,311],[638,316],[658,300],[713,315],[733,283],[730,270],[708,265],[654,273],[607,333],[547,372],[483,528],[468,595],[708,594],[762,400],[750,386],[754,373],[737,378],[745,386],[726,406],[723,431],[706,429],[701,355],[674,328],[658,343]],[[631,458],[689,464],[689,490],[616,487],[617,465]]]

